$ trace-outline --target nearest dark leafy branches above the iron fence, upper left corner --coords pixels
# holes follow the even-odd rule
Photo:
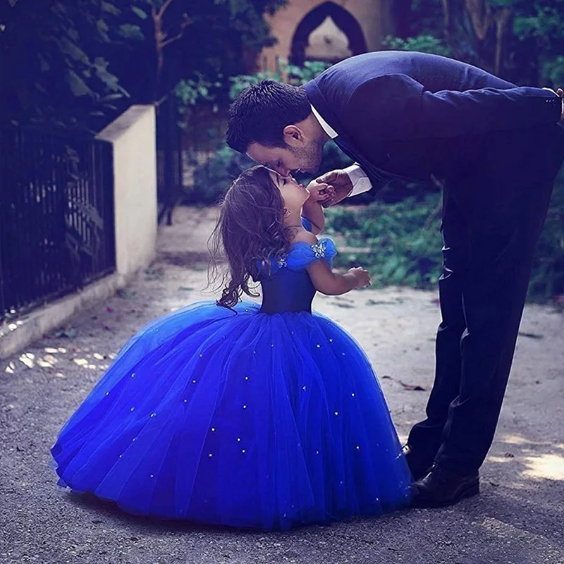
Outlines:
[[[1,0],[2,4],[6,0]],[[108,0],[9,1],[1,34],[4,116],[87,129],[128,93],[105,49],[120,10]]]

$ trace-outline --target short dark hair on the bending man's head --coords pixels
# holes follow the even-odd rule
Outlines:
[[[305,120],[311,112],[303,87],[262,80],[245,88],[229,106],[227,145],[240,153],[251,143],[285,147],[286,125]]]

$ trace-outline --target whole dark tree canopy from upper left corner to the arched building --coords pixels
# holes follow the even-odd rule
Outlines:
[[[126,104],[160,100],[176,85],[186,107],[221,104],[230,85],[221,77],[245,72],[273,44],[263,15],[285,3],[0,0],[2,80],[10,85],[3,114],[99,130]]]

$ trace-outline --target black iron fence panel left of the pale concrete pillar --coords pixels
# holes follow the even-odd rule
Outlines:
[[[115,269],[110,143],[0,129],[0,321]]]

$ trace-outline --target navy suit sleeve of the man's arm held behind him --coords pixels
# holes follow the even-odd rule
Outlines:
[[[561,103],[553,92],[532,87],[429,92],[409,76],[393,74],[364,82],[347,108],[357,127],[369,125],[376,135],[405,140],[557,123]]]

